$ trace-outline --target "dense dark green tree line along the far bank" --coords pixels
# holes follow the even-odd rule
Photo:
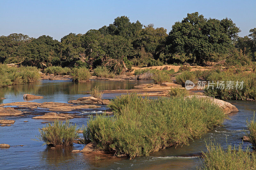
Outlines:
[[[143,26],[126,16],[113,24],[85,34],[70,33],[61,41],[42,35],[30,38],[13,33],[0,37],[0,62],[37,66],[85,66],[124,63],[153,66],[173,63],[205,64],[220,59],[230,61],[246,57],[255,60],[256,28],[245,37],[231,19],[204,18],[198,12],[175,22],[169,34],[163,27]],[[241,56],[242,55],[242,56]],[[239,63],[239,62],[234,62]],[[240,63],[242,63],[240,61]],[[111,64],[110,64],[111,65]],[[120,65],[120,64],[119,64]]]

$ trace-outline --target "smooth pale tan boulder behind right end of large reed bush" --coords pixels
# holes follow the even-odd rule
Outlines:
[[[217,104],[220,108],[222,108],[225,114],[229,114],[231,112],[238,112],[238,109],[236,108],[236,106],[232,105],[231,103],[228,103],[223,100],[215,99],[215,98],[213,99],[212,97],[209,97],[209,96],[192,95],[192,96],[187,96],[185,98],[193,98],[194,96],[197,98],[207,99],[212,101],[213,103]]]

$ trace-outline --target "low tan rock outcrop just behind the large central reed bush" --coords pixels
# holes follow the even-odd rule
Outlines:
[[[99,99],[92,96],[89,97],[81,97],[77,100],[69,100],[68,103],[84,103],[84,104],[102,104],[102,105],[108,105],[109,100],[106,99]]]

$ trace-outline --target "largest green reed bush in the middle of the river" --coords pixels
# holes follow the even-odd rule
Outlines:
[[[149,100],[130,94],[116,97],[108,107],[114,116],[91,117],[84,138],[102,151],[124,153],[130,158],[188,144],[189,139],[221,125],[226,117],[220,107],[198,98]]]

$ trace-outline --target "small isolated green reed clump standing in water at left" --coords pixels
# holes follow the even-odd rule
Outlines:
[[[44,144],[53,144],[54,146],[72,146],[74,141],[79,138],[76,125],[71,125],[69,121],[62,123],[54,121],[48,123],[46,127],[39,129],[40,136],[37,136],[39,141]]]

